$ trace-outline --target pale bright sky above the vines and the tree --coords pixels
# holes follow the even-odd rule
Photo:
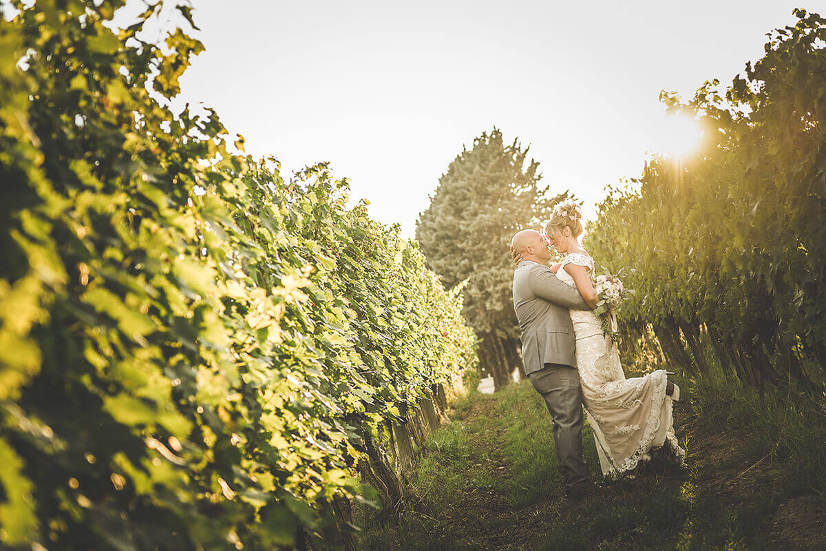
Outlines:
[[[285,177],[329,161],[406,237],[449,163],[494,126],[591,218],[605,185],[638,177],[676,131],[661,90],[728,83],[794,7],[817,4],[192,0],[207,50],[177,103],[215,108]]]

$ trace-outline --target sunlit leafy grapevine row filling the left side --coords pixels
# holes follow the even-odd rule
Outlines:
[[[460,290],[324,164],[164,107],[203,46],[140,31],[190,9],[123,4],[2,4],[0,545],[345,540],[386,425],[476,361]]]

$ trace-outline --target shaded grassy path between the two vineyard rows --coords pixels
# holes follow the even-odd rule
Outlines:
[[[431,435],[406,511],[363,549],[826,549],[826,500],[800,484],[741,416],[686,401],[676,431],[688,468],[665,458],[643,476],[572,504],[556,471],[551,418],[529,382],[473,393]],[[586,427],[586,462],[599,462]],[[795,482],[796,481],[796,482]]]

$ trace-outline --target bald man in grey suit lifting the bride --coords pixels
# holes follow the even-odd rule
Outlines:
[[[588,310],[576,287],[559,281],[546,265],[548,242],[536,230],[522,230],[510,253],[522,260],[514,273],[514,310],[522,330],[525,373],[553,416],[553,444],[567,496],[594,490],[582,458],[582,388],[574,355],[569,308]]]

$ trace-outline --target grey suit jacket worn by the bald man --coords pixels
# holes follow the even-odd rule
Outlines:
[[[590,310],[577,287],[559,281],[547,266],[520,262],[514,272],[514,310],[522,330],[526,374],[546,363],[577,367],[571,308]]]

